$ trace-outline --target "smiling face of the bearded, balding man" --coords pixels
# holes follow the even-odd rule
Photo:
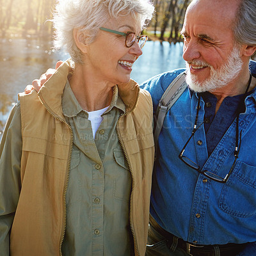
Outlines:
[[[182,28],[183,58],[187,62],[188,79],[196,83],[196,91],[212,90],[209,81],[216,88],[225,86],[241,70],[243,63],[232,32],[236,9],[237,1],[234,0],[195,0],[186,12]],[[229,72],[232,75],[226,74]],[[212,80],[216,74],[227,75],[229,79],[220,84],[221,81]]]

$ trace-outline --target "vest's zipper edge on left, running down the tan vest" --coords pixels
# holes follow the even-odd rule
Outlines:
[[[61,119],[60,117],[56,116],[51,109],[47,106],[47,104],[44,103],[44,101],[41,99],[41,97],[38,95],[38,99],[40,100],[40,102],[42,103],[42,105],[44,105],[45,109],[49,112],[49,114],[51,116],[53,116],[56,120],[63,122],[64,124],[66,124],[68,126],[68,129],[70,131],[70,135],[71,135],[71,140],[70,140],[70,146],[69,146],[69,152],[68,152],[68,164],[67,164],[67,174],[66,174],[66,180],[65,180],[65,189],[63,192],[63,205],[64,205],[64,212],[63,212],[63,225],[61,228],[61,239],[60,239],[60,246],[59,246],[59,253],[60,256],[62,256],[62,252],[61,252],[61,246],[64,240],[64,236],[65,236],[65,230],[67,227],[67,206],[66,206],[66,195],[67,195],[67,188],[68,188],[68,180],[69,180],[69,172],[70,172],[70,162],[71,162],[71,155],[72,155],[72,145],[73,145],[73,141],[74,141],[74,136],[73,136],[73,131],[71,126],[65,122],[65,120]]]

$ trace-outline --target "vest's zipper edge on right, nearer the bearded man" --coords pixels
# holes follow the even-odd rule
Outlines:
[[[138,100],[139,100],[139,97],[140,97],[140,91],[138,92],[138,95],[137,95],[137,99],[136,99],[136,104],[134,106],[133,109],[131,109],[129,112],[127,113],[124,113],[124,115],[120,115],[118,120],[117,120],[117,124],[116,124],[116,134],[117,134],[117,138],[118,138],[118,141],[120,142],[120,145],[121,145],[121,148],[124,152],[124,156],[125,156],[125,159],[127,161],[127,164],[128,164],[128,168],[129,168],[129,171],[132,175],[132,191],[131,191],[131,196],[130,196],[130,212],[129,212],[129,221],[130,221],[130,227],[131,227],[131,232],[132,232],[132,237],[133,237],[133,240],[134,240],[134,248],[136,250],[136,252],[138,253],[138,255],[140,255],[140,252],[138,250],[138,244],[137,244],[137,240],[136,240],[136,237],[135,237],[135,232],[134,232],[134,227],[132,226],[132,197],[133,197],[133,191],[134,191],[134,175],[132,173],[132,168],[131,168],[131,163],[129,161],[129,157],[127,156],[127,152],[125,150],[125,147],[124,147],[124,143],[122,142],[121,140],[121,137],[120,137],[120,134],[119,134],[119,131],[118,131],[118,123],[119,123],[119,120],[121,118],[123,118],[124,116],[127,116],[129,115],[130,113],[132,113],[132,111],[134,111],[134,109],[137,107],[138,105]]]

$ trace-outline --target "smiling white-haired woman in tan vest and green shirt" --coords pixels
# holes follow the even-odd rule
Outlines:
[[[60,0],[65,61],[20,93],[0,145],[1,255],[145,255],[152,101],[130,79],[147,0]]]

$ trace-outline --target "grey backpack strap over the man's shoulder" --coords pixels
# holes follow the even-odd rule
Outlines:
[[[187,88],[187,83],[185,81],[186,72],[182,72],[177,76],[172,83],[169,84],[168,88],[165,90],[163,96],[159,100],[154,119],[156,120],[154,129],[154,142],[155,142],[155,159],[156,152],[158,149],[158,137],[163,127],[164,118],[166,113],[172,108],[173,104],[179,99],[180,95]]]

